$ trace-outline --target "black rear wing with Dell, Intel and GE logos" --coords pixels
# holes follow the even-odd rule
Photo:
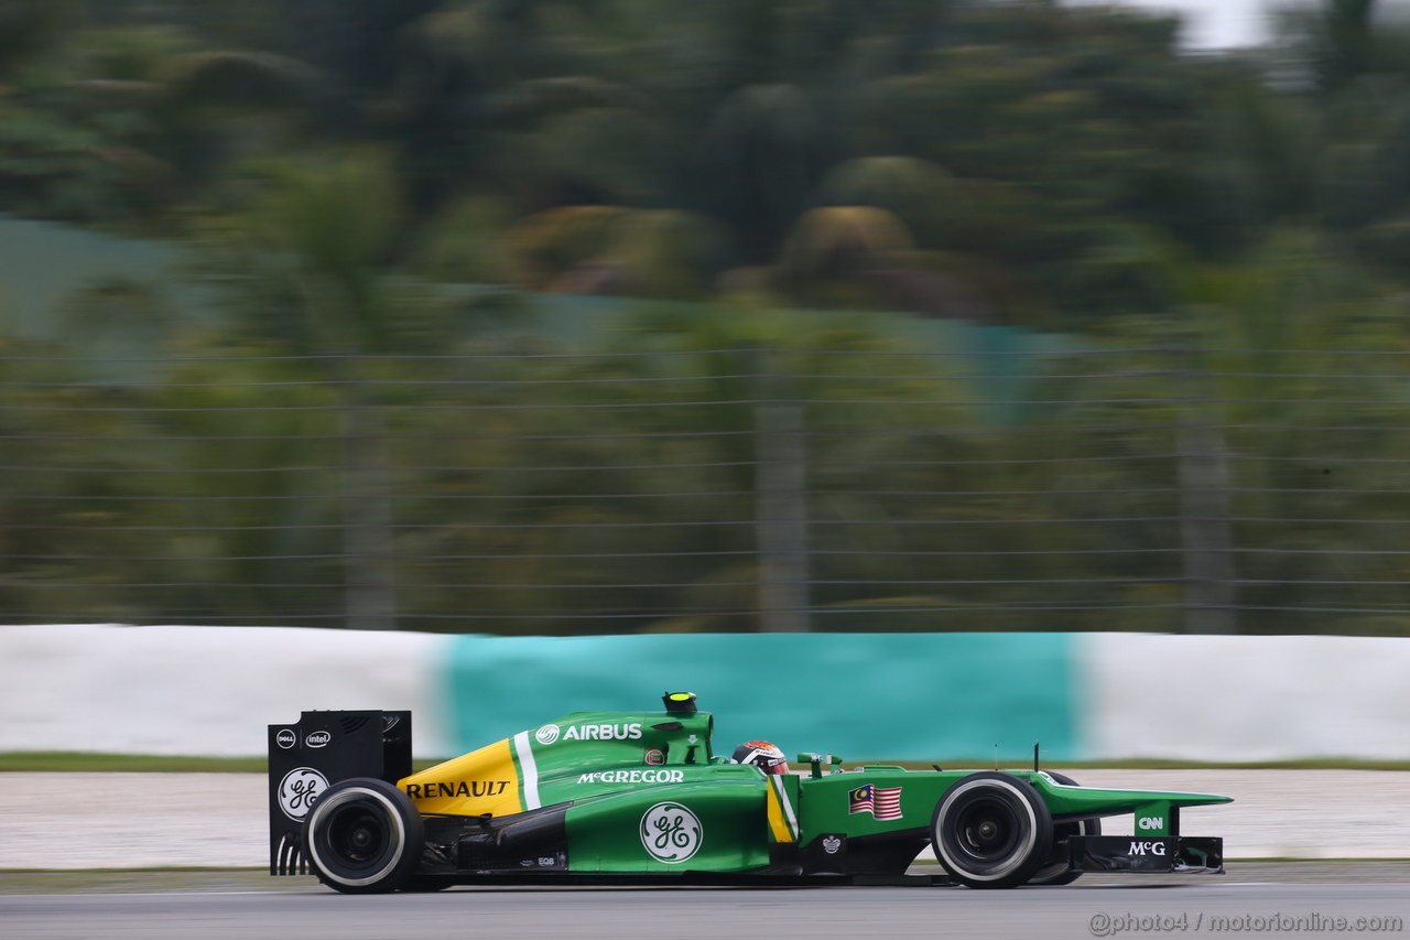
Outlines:
[[[303,817],[338,781],[412,773],[410,711],[305,711],[269,725],[269,874],[307,874]]]

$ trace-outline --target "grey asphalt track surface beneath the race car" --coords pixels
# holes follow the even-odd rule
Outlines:
[[[1089,875],[1066,888],[1004,892],[457,888],[344,896],[300,879],[255,891],[0,895],[0,936],[14,940],[1403,937],[1407,924],[1406,862],[1259,864],[1224,876]]]

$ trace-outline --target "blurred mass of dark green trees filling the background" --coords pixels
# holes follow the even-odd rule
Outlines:
[[[1371,525],[1407,518],[1403,370],[1338,354],[1406,350],[1410,41],[1369,0],[1176,37],[1046,0],[0,0],[0,210],[185,244],[221,306],[75,284],[55,339],[0,333],[0,610],[336,618],[351,582],[427,628],[767,627],[721,524],[763,370],[811,377],[819,628],[1189,627],[1197,421],[1232,545],[1287,549],[1238,559],[1241,627],[1406,632]],[[704,303],[602,343],[544,292]],[[870,311],[1149,351],[829,357],[916,351]],[[83,361],[124,342],[171,361]]]

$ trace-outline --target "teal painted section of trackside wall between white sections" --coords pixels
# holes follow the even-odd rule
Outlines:
[[[790,758],[1079,757],[1069,634],[455,637],[448,721],[461,749],[577,710],[699,694],[715,747],[767,738]]]

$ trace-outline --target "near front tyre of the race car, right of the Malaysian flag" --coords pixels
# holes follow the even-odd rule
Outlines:
[[[945,790],[931,819],[935,857],[970,888],[1015,888],[1048,858],[1053,821],[1028,781],[970,773]]]

